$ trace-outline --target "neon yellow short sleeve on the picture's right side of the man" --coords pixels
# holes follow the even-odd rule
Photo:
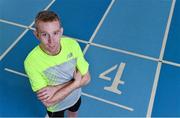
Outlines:
[[[76,47],[76,56],[77,56],[77,69],[80,71],[82,75],[85,75],[88,72],[89,69],[89,64],[84,58],[83,52],[79,46],[79,44],[76,42],[75,43]]]

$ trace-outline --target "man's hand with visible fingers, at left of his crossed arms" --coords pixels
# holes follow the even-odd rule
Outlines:
[[[37,97],[39,100],[48,101],[50,100],[56,92],[56,88],[54,86],[47,86],[37,92]]]

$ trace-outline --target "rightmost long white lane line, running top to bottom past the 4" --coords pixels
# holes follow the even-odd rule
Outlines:
[[[162,48],[161,48],[161,52],[160,52],[160,56],[159,56],[159,62],[158,62],[158,66],[156,69],[154,84],[153,84],[153,88],[152,88],[152,92],[151,92],[151,98],[149,101],[149,106],[148,106],[146,117],[151,117],[151,114],[152,114],[152,109],[153,109],[154,99],[155,99],[156,90],[157,90],[157,86],[158,86],[161,66],[162,66],[162,62],[165,62],[165,61],[163,61],[163,56],[164,56],[164,51],[165,51],[165,47],[166,47],[166,43],[167,43],[167,38],[168,38],[169,28],[170,28],[170,24],[171,24],[173,12],[174,12],[175,3],[176,3],[176,0],[173,0],[172,4],[171,4],[171,9],[170,9],[170,13],[169,13],[169,17],[168,17],[168,21],[167,21],[167,25],[166,25],[166,31],[165,31],[164,38],[163,38]],[[167,61],[166,61],[166,63],[167,63]]]

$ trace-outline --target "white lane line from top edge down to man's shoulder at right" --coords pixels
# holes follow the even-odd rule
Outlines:
[[[90,44],[91,44],[91,42],[93,41],[94,37],[96,36],[97,32],[99,31],[99,29],[100,29],[102,23],[104,22],[104,20],[105,20],[107,14],[108,14],[109,11],[111,10],[111,8],[112,8],[114,2],[115,2],[115,0],[112,0],[111,3],[110,3],[110,5],[108,6],[108,8],[107,8],[106,12],[104,13],[104,15],[103,15],[101,21],[99,22],[98,26],[96,27],[96,29],[95,29],[93,35],[91,36],[91,38],[90,38],[90,40],[89,40]],[[87,50],[88,50],[90,44],[87,44],[86,47],[84,48],[84,50],[83,50],[83,53],[84,53],[84,54],[87,52]]]

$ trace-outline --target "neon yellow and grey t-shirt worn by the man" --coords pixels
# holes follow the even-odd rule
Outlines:
[[[24,67],[33,91],[36,92],[47,85],[58,85],[70,81],[76,68],[82,75],[87,73],[89,64],[79,44],[70,38],[61,38],[60,44],[61,51],[58,55],[50,56],[36,46],[26,57]],[[48,111],[64,110],[76,103],[80,95],[81,89],[76,89],[64,100],[48,107]]]

